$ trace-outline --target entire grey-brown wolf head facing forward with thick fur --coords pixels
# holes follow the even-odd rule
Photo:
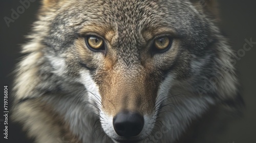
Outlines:
[[[114,142],[150,142],[163,126],[157,141],[175,141],[210,107],[237,98],[215,3],[200,2],[42,1],[17,70],[15,120],[37,142],[96,142],[92,120]],[[49,123],[24,120],[33,107],[26,102],[60,118],[56,138],[30,125]]]

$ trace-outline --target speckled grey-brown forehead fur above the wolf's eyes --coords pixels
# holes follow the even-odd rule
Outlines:
[[[118,35],[116,43],[123,45],[143,43],[143,31],[153,33],[159,28],[172,29],[175,36],[193,41],[189,42],[192,47],[203,47],[210,39],[207,20],[189,1],[66,1],[49,8],[56,10],[47,13],[52,21],[44,42],[55,48],[69,47],[74,34],[92,25],[101,26],[103,33],[113,30]]]

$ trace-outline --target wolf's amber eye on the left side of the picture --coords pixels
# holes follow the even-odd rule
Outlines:
[[[97,36],[89,36],[87,38],[88,46],[93,50],[104,50],[104,42],[101,38]]]

